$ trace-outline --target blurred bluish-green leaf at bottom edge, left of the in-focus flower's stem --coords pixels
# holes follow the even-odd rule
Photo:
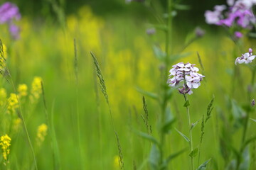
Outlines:
[[[151,147],[151,151],[149,154],[149,165],[151,170],[159,169],[159,162],[160,162],[160,152],[159,148],[156,145]]]

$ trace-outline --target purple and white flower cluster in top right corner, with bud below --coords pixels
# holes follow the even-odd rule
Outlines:
[[[252,6],[255,5],[255,0],[228,0],[228,8],[225,5],[217,5],[214,11],[206,11],[206,23],[217,26],[238,26],[240,28],[251,29],[256,23],[255,16],[252,13]],[[235,37],[242,37],[242,33],[235,32]]]

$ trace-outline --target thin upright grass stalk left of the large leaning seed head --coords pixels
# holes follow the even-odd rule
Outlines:
[[[79,154],[79,164],[80,169],[83,169],[82,166],[82,147],[81,147],[81,139],[80,139],[80,113],[78,110],[78,50],[76,45],[76,40],[74,38],[74,72],[75,72],[75,108],[77,114],[77,130],[78,130],[78,154]]]

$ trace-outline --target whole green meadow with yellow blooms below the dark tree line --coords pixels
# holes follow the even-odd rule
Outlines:
[[[235,65],[255,38],[171,14],[55,16],[22,16],[16,40],[0,25],[0,169],[256,169],[255,61]],[[179,62],[205,76],[191,95],[167,84]]]

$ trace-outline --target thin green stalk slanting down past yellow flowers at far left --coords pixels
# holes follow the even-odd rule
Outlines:
[[[6,69],[7,69],[7,72],[9,72],[9,69],[8,69],[8,68],[6,68]],[[21,120],[22,120],[22,122],[23,122],[23,127],[24,127],[24,130],[25,130],[25,132],[26,132],[26,137],[27,137],[27,139],[28,139],[28,145],[29,145],[29,147],[31,147],[31,152],[32,152],[32,154],[33,154],[34,164],[35,164],[35,166],[36,166],[36,170],[38,170],[38,166],[37,166],[37,163],[36,163],[36,154],[35,154],[34,149],[33,149],[33,145],[32,145],[32,142],[31,142],[31,138],[30,138],[29,135],[28,135],[28,128],[26,127],[26,122],[25,122],[25,119],[24,119],[24,117],[23,117],[23,112],[22,112],[22,109],[21,109],[21,101],[20,101],[19,98],[18,98],[17,91],[16,91],[16,88],[15,88],[15,86],[14,86],[14,81],[13,81],[13,79],[12,79],[12,77],[11,77],[11,73],[10,73],[10,72],[9,72],[9,77],[10,77],[10,79],[11,79],[11,85],[13,86],[14,93],[16,94],[16,98],[17,98],[17,101],[18,101],[18,108],[19,108],[19,111],[20,111]]]

